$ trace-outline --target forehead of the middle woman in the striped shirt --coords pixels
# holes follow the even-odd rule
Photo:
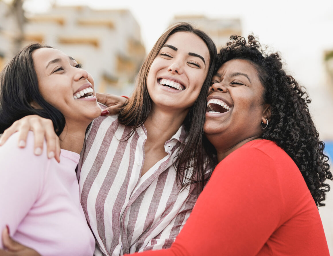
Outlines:
[[[207,60],[209,60],[209,50],[207,45],[200,37],[191,32],[176,32],[169,36],[165,44],[176,47],[178,49],[177,51],[199,54],[206,60],[206,63]]]

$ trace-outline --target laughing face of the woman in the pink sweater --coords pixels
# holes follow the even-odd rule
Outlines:
[[[53,48],[37,49],[32,58],[41,95],[64,115],[67,125],[88,125],[101,114],[94,80],[73,58]]]

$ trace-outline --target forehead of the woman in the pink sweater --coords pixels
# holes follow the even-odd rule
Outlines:
[[[40,66],[44,64],[48,64],[49,61],[54,59],[65,59],[68,60],[69,56],[63,53],[58,49],[53,48],[40,48],[32,53],[32,59],[34,60],[35,66]],[[45,67],[46,67],[45,65]]]

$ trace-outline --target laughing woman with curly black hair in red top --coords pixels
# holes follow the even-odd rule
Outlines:
[[[310,99],[279,54],[231,39],[204,126],[219,164],[171,248],[142,255],[329,255],[317,206],[332,173]]]

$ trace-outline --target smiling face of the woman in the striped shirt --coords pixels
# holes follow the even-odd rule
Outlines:
[[[201,38],[190,32],[172,34],[147,76],[153,108],[188,110],[200,93],[208,69],[209,51]]]

